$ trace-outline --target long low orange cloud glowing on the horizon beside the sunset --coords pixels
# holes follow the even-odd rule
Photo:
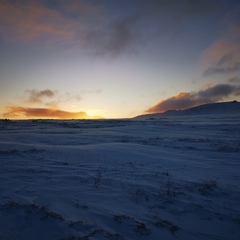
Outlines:
[[[6,113],[2,114],[4,118],[31,119],[92,119],[100,117],[90,117],[85,112],[68,112],[51,108],[29,108],[21,106],[8,106]]]

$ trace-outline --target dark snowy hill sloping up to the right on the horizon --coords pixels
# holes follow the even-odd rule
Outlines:
[[[240,102],[232,101],[232,102],[209,103],[184,110],[169,110],[163,113],[143,114],[135,118],[156,118],[167,116],[218,115],[218,114],[240,115]]]

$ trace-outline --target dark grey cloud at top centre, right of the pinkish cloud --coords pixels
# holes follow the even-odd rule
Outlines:
[[[127,1],[123,2],[129,4],[129,2],[126,3]],[[218,6],[220,5],[219,3]],[[87,32],[84,42],[95,54],[118,56],[126,52],[134,53],[151,39],[159,37],[159,33],[170,31],[175,33],[178,28],[182,27],[181,22],[218,9],[215,4],[207,0],[198,2],[136,0],[130,3],[129,8],[134,10],[114,18],[110,23],[106,22],[104,26],[96,30],[91,29]]]

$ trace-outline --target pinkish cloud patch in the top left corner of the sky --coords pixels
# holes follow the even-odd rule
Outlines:
[[[67,41],[73,38],[77,26],[73,19],[36,0],[3,0],[0,3],[0,16],[0,35],[12,42]]]

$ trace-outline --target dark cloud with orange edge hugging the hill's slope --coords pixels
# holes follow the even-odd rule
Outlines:
[[[222,101],[229,96],[240,96],[240,85],[217,84],[198,92],[184,92],[163,100],[147,109],[148,113],[182,110],[201,104]]]

